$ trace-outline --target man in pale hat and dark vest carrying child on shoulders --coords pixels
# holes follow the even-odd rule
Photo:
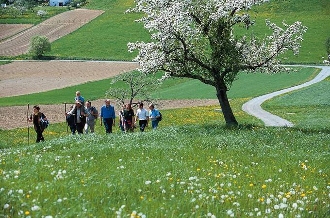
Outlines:
[[[89,113],[88,109],[84,108],[82,106],[82,101],[77,100],[75,103],[76,107],[70,110],[70,112],[66,113],[66,116],[68,115],[75,115],[75,125],[78,134],[82,134],[83,127],[86,124],[86,117],[90,116],[91,114]]]

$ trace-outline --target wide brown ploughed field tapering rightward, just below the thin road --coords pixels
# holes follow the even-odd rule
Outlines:
[[[39,93],[136,69],[133,62],[12,62],[0,65],[0,97]]]

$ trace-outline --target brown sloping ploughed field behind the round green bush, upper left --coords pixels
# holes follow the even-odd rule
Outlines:
[[[75,9],[50,17],[44,22],[0,43],[0,56],[16,56],[28,52],[33,35],[46,36],[50,42],[77,30],[104,11]]]

